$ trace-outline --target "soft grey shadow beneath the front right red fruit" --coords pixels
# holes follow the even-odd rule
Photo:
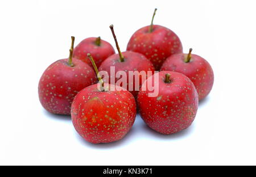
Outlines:
[[[151,136],[155,138],[159,138],[162,140],[171,140],[171,139],[177,139],[177,138],[184,138],[186,136],[189,136],[194,130],[194,125],[193,123],[186,129],[181,130],[180,132],[174,133],[174,134],[161,134],[156,132],[155,130],[151,129],[148,127],[146,124],[141,125],[141,128],[143,129],[144,132],[151,134]]]

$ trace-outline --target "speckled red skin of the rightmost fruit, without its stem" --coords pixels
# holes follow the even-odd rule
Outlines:
[[[202,57],[196,54],[191,55],[191,60],[185,62],[187,54],[175,54],[168,57],[164,62],[161,71],[175,71],[187,75],[194,83],[199,100],[204,99],[212,90],[213,70],[210,64]]]

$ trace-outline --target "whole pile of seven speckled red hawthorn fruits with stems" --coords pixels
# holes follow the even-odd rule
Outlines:
[[[110,29],[118,54],[100,37],[84,39],[74,49],[72,36],[69,58],[51,64],[40,78],[42,106],[51,113],[71,115],[80,136],[93,144],[123,138],[134,124],[137,108],[148,127],[159,133],[188,128],[195,119],[199,100],[212,89],[213,70],[204,58],[191,54],[192,49],[183,53],[174,32],[152,23],[155,11],[151,25],[131,36],[126,52],[119,49],[113,25]],[[155,73],[159,78],[155,82],[158,96],[150,97],[148,89],[117,89],[98,74],[98,69],[110,73],[110,66],[115,66],[115,72],[127,74],[134,70],[159,71]],[[148,78],[139,85],[147,84]],[[153,83],[154,78],[152,75]]]

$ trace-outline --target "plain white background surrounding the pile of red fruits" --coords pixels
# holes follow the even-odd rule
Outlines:
[[[151,22],[206,58],[212,92],[192,126],[164,136],[137,116],[123,140],[93,145],[69,116],[44,111],[38,81],[75,44],[101,36],[122,50]],[[255,1],[1,1],[0,165],[256,165]]]

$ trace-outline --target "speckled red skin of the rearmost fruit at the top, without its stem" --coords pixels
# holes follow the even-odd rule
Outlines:
[[[159,70],[164,60],[175,53],[182,53],[183,48],[179,37],[170,29],[154,25],[153,31],[148,32],[150,26],[138,29],[127,44],[127,50],[144,54]]]

